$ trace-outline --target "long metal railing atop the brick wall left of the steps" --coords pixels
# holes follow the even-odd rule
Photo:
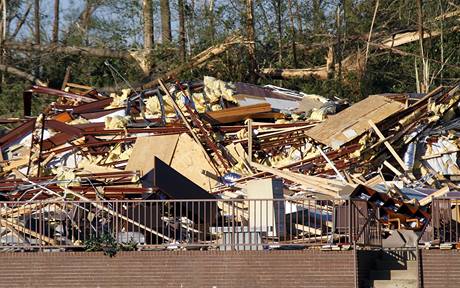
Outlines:
[[[379,233],[366,205],[344,200],[0,202],[2,248],[81,248],[109,237],[150,248],[262,250],[376,245]]]

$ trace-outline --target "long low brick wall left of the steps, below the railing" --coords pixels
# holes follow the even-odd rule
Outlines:
[[[1,287],[354,287],[353,251],[0,253]]]

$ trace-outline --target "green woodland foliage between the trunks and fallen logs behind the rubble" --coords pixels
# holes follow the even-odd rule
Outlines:
[[[71,1],[61,12],[60,44],[64,46],[89,46],[110,49],[141,49],[143,23],[142,1],[91,0],[94,13],[88,22],[87,33],[78,24],[83,5],[88,1]],[[178,65],[178,11],[177,2],[170,1],[173,42],[160,43],[159,1],[154,0],[155,49],[152,51],[152,69],[146,76],[130,60],[101,59],[96,57],[69,56],[47,53],[7,51],[5,64],[11,65],[60,88],[66,68],[71,66],[71,82],[94,87],[124,88],[126,83],[114,77],[104,64],[108,60],[132,84],[155,78]],[[188,58],[217,44],[227,36],[239,32],[246,35],[245,1],[185,1]],[[448,0],[426,0],[424,7],[425,31],[439,31],[444,35],[424,41],[425,55],[429,58],[431,87],[458,81],[460,75],[460,33],[452,29],[458,26],[458,17],[445,20],[439,15],[458,9]],[[18,18],[24,15],[28,1],[8,2],[10,33]],[[375,1],[371,0],[292,0],[295,39],[292,38],[291,17],[287,1],[254,0],[254,23],[256,31],[256,58],[259,68],[294,68],[292,41],[296,43],[297,68],[313,68],[325,64],[328,47],[333,46],[336,63],[366,48],[367,34],[371,26]],[[452,2],[453,3],[453,2]],[[278,4],[280,4],[278,6]],[[280,7],[280,9],[278,9]],[[278,31],[278,14],[281,18],[281,35]],[[48,44],[49,27],[53,17],[42,13],[43,43]],[[46,16],[48,15],[48,16]],[[337,21],[337,18],[340,21]],[[33,13],[16,41],[33,39]],[[458,27],[457,27],[458,29]],[[417,31],[417,10],[415,1],[380,1],[372,41],[379,41],[398,31]],[[341,40],[338,42],[338,40]],[[281,51],[280,51],[281,45]],[[388,50],[371,47],[367,67],[361,72],[343,73],[329,80],[275,80],[259,78],[257,84],[275,84],[298,89],[305,93],[327,97],[343,97],[359,101],[369,94],[415,92],[415,62],[420,65],[418,42],[397,47],[408,55],[402,56]],[[442,65],[441,61],[445,61]],[[226,81],[249,81],[250,59],[244,45],[235,46],[216,57],[206,65],[177,75],[179,79],[198,80],[211,75]],[[421,69],[419,68],[419,73]],[[22,92],[31,83],[6,73],[0,93],[0,117],[22,115]],[[36,115],[55,99],[45,96],[34,97],[33,113]]]

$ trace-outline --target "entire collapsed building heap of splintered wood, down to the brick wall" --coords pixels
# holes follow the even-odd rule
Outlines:
[[[0,245],[454,247],[460,85],[341,99],[227,83],[32,86],[0,137]],[[31,116],[35,97],[56,101]]]

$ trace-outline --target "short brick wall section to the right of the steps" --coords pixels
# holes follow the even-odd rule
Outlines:
[[[458,250],[422,250],[424,288],[460,287],[460,252]]]

